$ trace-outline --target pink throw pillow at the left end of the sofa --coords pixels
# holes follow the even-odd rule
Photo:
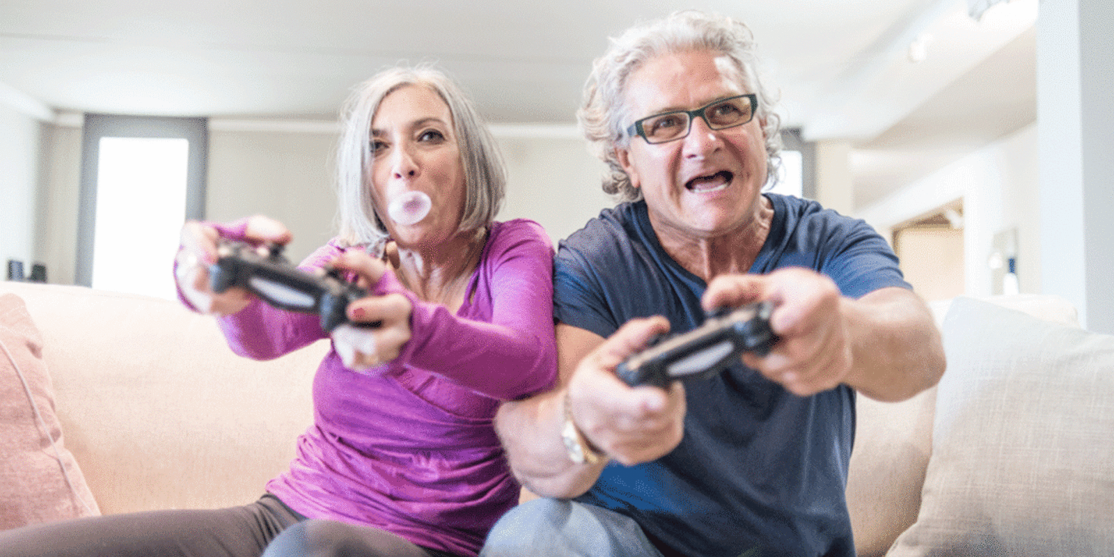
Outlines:
[[[19,296],[0,295],[0,530],[96,514],[62,443],[42,336]]]

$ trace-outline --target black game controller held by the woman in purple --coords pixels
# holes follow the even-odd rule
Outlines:
[[[349,323],[344,313],[348,304],[368,292],[345,281],[336,270],[322,275],[302,271],[283,256],[282,250],[280,244],[256,247],[243,242],[222,242],[217,246],[217,261],[209,266],[209,287],[221,293],[241,286],[281,310],[316,313],[326,333]]]

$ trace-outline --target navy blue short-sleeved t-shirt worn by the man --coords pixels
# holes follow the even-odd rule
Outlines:
[[[897,256],[864,222],[814,202],[766,197],[773,222],[751,273],[803,266],[851,297],[909,287]],[[705,289],[662,248],[645,202],[620,204],[560,243],[554,311],[561,323],[604,338],[658,314],[684,332],[704,320]],[[685,393],[681,444],[653,462],[610,462],[579,501],[631,516],[666,555],[853,557],[843,495],[852,389],[801,398],[739,362],[688,381]]]

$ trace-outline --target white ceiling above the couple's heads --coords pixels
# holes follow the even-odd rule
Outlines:
[[[860,206],[1035,120],[1037,0],[978,21],[968,0],[3,0],[0,100],[332,119],[378,69],[431,61],[492,123],[567,128],[607,38],[682,8],[752,28],[788,123],[854,146]]]

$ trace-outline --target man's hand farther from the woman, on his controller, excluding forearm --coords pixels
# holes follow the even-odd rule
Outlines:
[[[844,382],[853,365],[844,297],[825,275],[789,267],[766,275],[722,275],[709,284],[706,310],[760,300],[774,303],[770,326],[781,340],[769,355],[743,354],[743,362],[800,397]]]

